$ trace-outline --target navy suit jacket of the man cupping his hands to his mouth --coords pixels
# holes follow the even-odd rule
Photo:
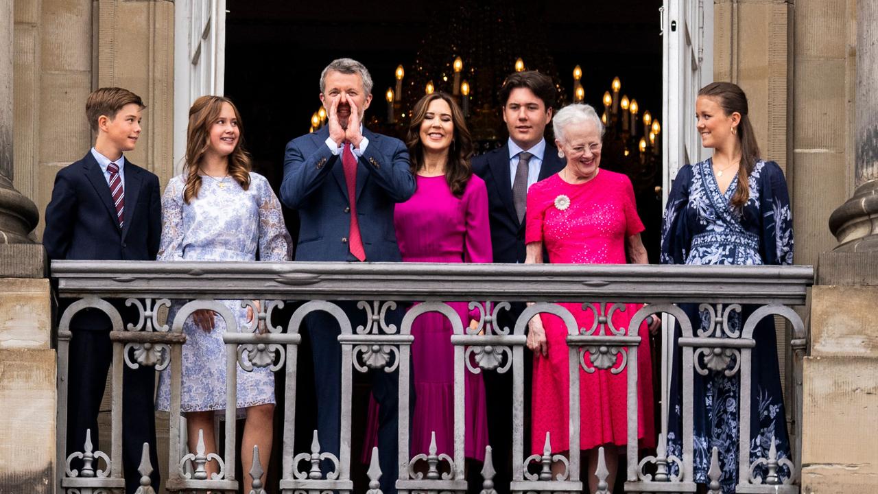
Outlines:
[[[367,261],[399,261],[393,207],[414,194],[408,150],[363,128],[369,145],[357,159],[356,215]],[[342,155],[326,145],[328,127],[286,145],[280,197],[299,211],[297,261],[349,260],[350,199]]]

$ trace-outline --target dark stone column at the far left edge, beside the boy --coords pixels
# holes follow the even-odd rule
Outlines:
[[[12,186],[12,0],[0,0],[0,244],[31,243],[40,213]]]

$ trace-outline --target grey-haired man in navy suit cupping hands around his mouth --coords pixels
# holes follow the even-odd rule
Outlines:
[[[320,101],[328,125],[286,146],[281,200],[299,212],[297,261],[399,261],[393,207],[414,194],[406,146],[363,128],[372,79],[362,63],[331,62],[320,74]],[[337,302],[356,328],[365,313],[354,302]],[[388,314],[399,325],[399,309]],[[339,453],[341,414],[340,329],[324,312],[306,317],[314,357],[320,445]],[[349,372],[345,369],[345,372]],[[372,371],[372,395],[380,405],[378,451],[381,489],[396,492],[398,381],[396,373]],[[345,397],[347,399],[348,397]],[[326,465],[324,465],[326,468]]]

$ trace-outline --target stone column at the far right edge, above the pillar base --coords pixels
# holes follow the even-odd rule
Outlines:
[[[853,197],[829,219],[836,251],[878,251],[878,4],[857,2]]]

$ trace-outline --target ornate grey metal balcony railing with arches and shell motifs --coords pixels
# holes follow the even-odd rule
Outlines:
[[[751,378],[752,331],[761,319],[780,316],[792,328],[791,345],[794,356],[795,386],[788,389],[788,403],[793,423],[801,424],[801,361],[808,341],[802,320],[791,306],[805,303],[806,290],[813,282],[810,266],[657,266],[657,265],[444,265],[444,264],[349,264],[349,263],[220,263],[220,262],[92,262],[62,261],[52,264],[53,276],[58,279],[60,296],[78,299],[61,316],[58,332],[58,488],[59,492],[82,493],[122,489],[121,469],[121,380],[123,366],[169,367],[171,371],[171,417],[179,415],[181,406],[181,368],[184,321],[198,309],[212,309],[227,324],[224,342],[227,345],[227,410],[226,437],[235,437],[235,394],[237,366],[270,367],[274,372],[286,373],[284,410],[282,474],[279,486],[270,491],[284,494],[336,490],[351,492],[354,484],[350,476],[350,424],[352,370],[363,372],[369,368],[398,369],[400,382],[410,376],[410,345],[414,319],[428,312],[441,313],[450,319],[455,345],[455,447],[451,456],[429,454],[409,458],[408,430],[410,410],[409,387],[399,386],[399,479],[400,492],[464,492],[464,372],[512,372],[514,377],[513,403],[513,483],[515,492],[579,492],[587,486],[580,478],[579,431],[573,430],[569,444],[569,459],[551,454],[550,438],[546,438],[546,453],[525,457],[523,450],[524,407],[523,358],[526,328],[532,316],[549,313],[560,317],[568,330],[570,350],[570,417],[579,424],[579,367],[586,372],[621,372],[627,368],[628,447],[626,492],[694,492],[693,474],[693,384],[695,372],[709,372],[706,367],[723,369],[727,374],[740,374],[740,454],[738,492],[798,492],[795,485],[798,468],[788,460],[779,459],[774,447],[762,452],[759,461],[751,464],[749,444],[749,382]],[[127,299],[129,307],[140,312],[137,323],[123,324],[119,311],[106,299]],[[170,300],[184,301],[176,316],[162,323],[157,314]],[[253,301],[262,303],[255,310],[263,331],[252,327],[239,328],[227,306],[219,300]],[[289,321],[274,325],[273,312],[284,301],[304,301]],[[366,312],[368,323],[353,327],[348,316],[334,301],[359,301],[358,308]],[[454,309],[444,301],[471,301],[470,309],[479,313],[478,328],[469,328]],[[509,309],[507,302],[535,302],[524,309],[513,328],[500,327],[500,311]],[[397,302],[420,302],[407,311],[401,325],[395,327],[385,321],[386,309]],[[598,317],[595,328],[579,328],[576,320],[558,302],[583,303],[583,309],[596,310],[616,302],[648,302],[633,316],[630,331],[613,328],[607,317]],[[711,327],[716,331],[694,331],[679,303],[706,304],[713,317]],[[245,302],[252,303],[252,302]],[[728,331],[730,312],[739,311],[739,304],[761,306],[742,323],[741,331]],[[103,310],[112,321],[112,441],[110,454],[95,451],[90,441],[83,451],[65,454],[68,342],[69,323],[76,312],[85,308]],[[254,307],[255,309],[255,307]],[[342,346],[342,440],[338,457],[327,454],[314,434],[310,451],[294,451],[294,420],[296,410],[296,379],[299,332],[306,314],[325,311],[335,316],[342,328],[339,341]],[[596,312],[596,314],[598,314]],[[667,454],[663,426],[655,455],[639,457],[637,449],[637,345],[644,335],[637,328],[651,314],[673,316],[681,325],[679,349],[683,369],[683,449],[680,457]],[[600,315],[600,314],[598,314]],[[667,331],[665,324],[663,331]],[[698,330],[697,328],[695,330]],[[479,334],[481,333],[481,334]],[[668,339],[666,338],[666,341]],[[588,358],[586,358],[588,356]],[[723,362],[726,365],[723,365]],[[732,362],[732,368],[727,364]],[[665,365],[663,368],[669,366]],[[663,376],[663,381],[666,376]],[[663,400],[663,403],[666,400]],[[633,410],[633,412],[632,412]],[[663,417],[665,415],[663,414]],[[659,422],[657,420],[657,422]],[[661,422],[664,422],[662,420]],[[197,451],[183,456],[178,421],[170,421],[168,490],[230,491],[238,487],[240,478],[235,472],[234,441],[227,441],[224,452],[205,455],[201,445]],[[798,438],[801,434],[795,433]],[[798,441],[796,441],[798,442]],[[794,445],[794,458],[800,458],[800,448]],[[146,451],[146,450],[145,450]],[[258,451],[254,451],[254,455]],[[369,469],[368,492],[376,494],[380,471],[372,455]],[[78,471],[69,468],[70,461],[81,458],[86,465]],[[335,471],[325,475],[320,461],[329,459]],[[205,463],[217,461],[219,474],[207,478]],[[423,461],[426,475],[415,471],[415,462]],[[551,463],[563,461],[565,472],[553,476]],[[102,463],[98,468],[98,463]],[[759,463],[766,475],[754,474]],[[259,461],[253,462],[251,475],[258,479],[262,471]],[[303,465],[310,469],[300,469]],[[676,465],[676,468],[674,468]],[[440,468],[442,466],[442,468]],[[187,467],[191,475],[184,474]],[[149,486],[148,455],[140,472],[144,489]],[[442,475],[440,475],[440,469]],[[164,470],[164,469],[162,469]],[[647,473],[649,472],[649,473]],[[479,475],[470,471],[469,475]],[[485,490],[493,490],[493,466],[490,448],[486,452]],[[597,476],[606,479],[607,470],[602,460]],[[709,491],[719,492],[719,460],[716,448],[709,472]],[[782,479],[782,480],[781,480]],[[263,492],[258,481],[254,492]],[[278,489],[279,487],[279,489]],[[610,486],[611,488],[611,486]],[[586,487],[587,489],[587,487]],[[599,491],[608,489],[601,482]],[[149,490],[144,490],[149,492]]]

